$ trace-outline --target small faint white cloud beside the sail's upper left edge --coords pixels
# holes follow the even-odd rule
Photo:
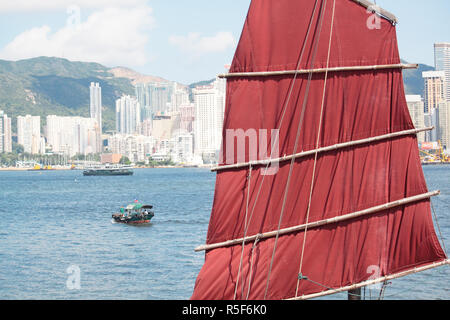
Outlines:
[[[231,32],[218,32],[211,37],[190,32],[187,36],[171,36],[169,43],[179,47],[184,52],[194,56],[201,56],[213,52],[223,52],[229,48],[233,48],[236,41]]]

